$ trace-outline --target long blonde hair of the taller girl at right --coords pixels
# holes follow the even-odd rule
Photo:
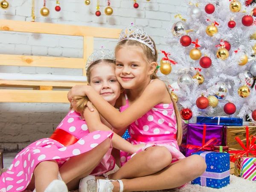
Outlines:
[[[121,49],[122,47],[126,47],[126,46],[138,46],[138,47],[141,47],[143,49],[143,53],[145,55],[145,58],[147,59],[147,62],[148,63],[151,63],[151,62],[157,62],[157,49],[156,49],[156,45],[153,41],[153,39],[151,37],[149,37],[151,39],[151,41],[153,42],[154,44],[154,49],[156,50],[156,53],[155,55],[153,55],[152,53],[152,50],[140,43],[139,41],[134,41],[134,40],[123,40],[123,41],[120,41],[117,45],[116,45],[116,48],[115,48],[115,55],[116,55],[116,52]],[[154,72],[151,76],[150,76],[150,79],[160,79],[156,72]],[[161,80],[161,79],[160,79]],[[162,81],[162,80],[161,80]],[[168,90],[169,92],[169,86],[166,85],[166,89]],[[178,107],[177,107],[177,104],[176,102],[174,101],[174,99],[172,99],[172,96],[171,94],[169,93],[170,97],[171,97],[171,100],[172,100],[172,104],[173,104],[173,108],[174,108],[174,111],[175,111],[175,116],[176,116],[176,122],[177,122],[177,143],[178,145],[181,144],[181,140],[182,140],[182,121],[181,121],[181,116],[180,116],[180,112],[178,110]]]

